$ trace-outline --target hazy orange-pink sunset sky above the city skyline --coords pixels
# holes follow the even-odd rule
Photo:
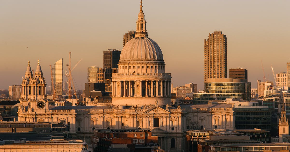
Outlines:
[[[139,0],[0,0],[0,89],[21,84],[27,62],[37,60],[50,86],[50,68],[68,52],[76,89],[84,89],[89,66],[103,67],[103,51],[122,50],[123,35],[136,30]],[[227,36],[227,67],[246,68],[257,79],[274,80],[290,62],[290,1],[143,0],[148,37],[161,48],[173,86],[203,90],[203,46],[209,33]],[[64,81],[66,77],[64,76]]]

